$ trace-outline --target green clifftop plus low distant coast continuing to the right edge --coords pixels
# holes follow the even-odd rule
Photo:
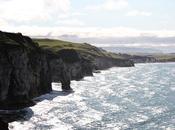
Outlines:
[[[175,54],[116,54],[112,52],[107,52],[101,48],[92,46],[87,43],[73,43],[62,40],[53,39],[33,39],[39,44],[43,49],[52,50],[54,53],[59,52],[62,49],[74,49],[80,53],[83,57],[88,59],[92,57],[108,57],[117,60],[129,59],[129,60],[139,60],[139,62],[174,62]]]

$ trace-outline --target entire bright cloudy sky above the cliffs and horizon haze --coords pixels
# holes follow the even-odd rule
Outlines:
[[[0,30],[29,36],[175,36],[175,0],[0,0]]]

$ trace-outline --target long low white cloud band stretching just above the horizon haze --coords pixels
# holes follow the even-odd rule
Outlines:
[[[77,35],[79,37],[138,37],[138,36],[158,36],[158,37],[172,37],[175,36],[175,31],[169,30],[137,30],[126,27],[100,28],[100,27],[79,27],[79,26],[62,26],[62,27],[38,27],[38,26],[3,26],[4,31],[22,32],[30,36],[47,36],[48,33],[52,37],[60,35]]]

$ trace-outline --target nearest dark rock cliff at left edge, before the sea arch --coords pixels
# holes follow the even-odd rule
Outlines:
[[[0,108],[25,107],[51,91],[47,55],[21,34],[0,32]],[[23,105],[21,105],[23,104]]]

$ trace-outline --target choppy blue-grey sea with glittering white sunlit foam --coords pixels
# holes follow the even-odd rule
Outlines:
[[[70,94],[53,83],[28,121],[10,129],[175,130],[175,63],[111,68],[71,83]]]

